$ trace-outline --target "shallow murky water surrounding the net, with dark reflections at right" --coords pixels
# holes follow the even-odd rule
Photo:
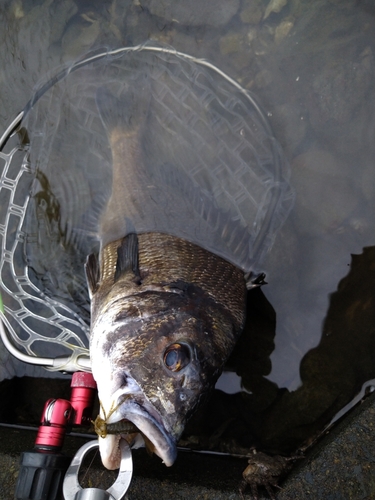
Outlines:
[[[235,440],[288,451],[375,378],[375,9],[355,0],[186,5],[3,3],[0,129],[62,63],[147,39],[211,61],[259,97],[296,201],[263,261],[268,285],[249,294],[232,356],[246,392],[231,394],[240,386],[232,371],[229,394],[217,391],[196,418],[208,422],[204,432],[193,423],[190,434],[220,437],[197,446],[229,449]],[[3,377],[27,372],[4,351],[0,359]]]

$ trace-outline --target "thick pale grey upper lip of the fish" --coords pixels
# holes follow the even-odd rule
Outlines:
[[[142,436],[151,441],[155,448],[154,452],[163,460],[165,465],[168,467],[173,465],[177,458],[175,439],[167,432],[157,410],[150,403],[127,398],[119,406],[117,412],[120,419],[132,422]],[[118,446],[118,440],[113,441],[113,446]]]

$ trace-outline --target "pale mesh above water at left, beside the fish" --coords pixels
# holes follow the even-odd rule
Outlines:
[[[0,152],[2,320],[13,342],[28,355],[69,355],[77,348],[87,349],[88,325],[67,305],[46,296],[30,276],[23,227],[34,175],[28,146],[15,142],[12,138]]]

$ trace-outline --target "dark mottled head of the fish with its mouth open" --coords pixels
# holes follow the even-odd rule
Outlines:
[[[230,315],[203,295],[190,287],[120,297],[101,309],[92,328],[102,418],[131,421],[167,466],[176,459],[186,421],[214,386],[235,342]],[[118,437],[99,441],[103,464],[117,468]]]

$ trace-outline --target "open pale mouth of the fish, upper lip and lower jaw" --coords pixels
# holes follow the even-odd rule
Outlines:
[[[146,446],[149,447],[151,443],[152,451],[162,459],[165,465],[167,467],[173,465],[177,457],[176,442],[165,429],[160,414],[149,402],[139,402],[126,395],[126,400],[120,403],[113,417],[111,423],[127,420],[134,424]],[[121,431],[120,434],[107,434],[105,438],[99,437],[100,455],[107,469],[118,469],[120,466],[119,442],[122,437],[129,439],[129,436],[122,435]],[[136,440],[134,447],[139,445],[139,440]]]

